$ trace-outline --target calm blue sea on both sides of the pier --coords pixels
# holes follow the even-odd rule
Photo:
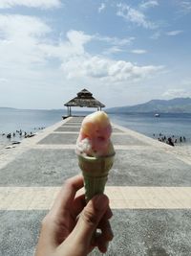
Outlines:
[[[54,123],[61,121],[63,110],[23,110],[0,108],[0,144],[10,142],[2,133],[15,132],[22,129],[28,133],[40,131]],[[187,142],[191,142],[191,114],[161,114],[155,117],[152,113],[128,113],[128,114],[109,114],[112,122],[134,129],[147,136],[159,136],[159,133],[166,136],[185,136]],[[19,140],[16,133],[11,140]]]

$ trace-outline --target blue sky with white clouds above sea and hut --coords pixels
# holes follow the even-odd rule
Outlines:
[[[0,106],[191,97],[191,1],[1,0]]]

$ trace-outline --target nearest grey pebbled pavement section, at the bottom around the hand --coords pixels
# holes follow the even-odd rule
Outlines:
[[[0,255],[32,256],[47,211],[0,211]],[[106,255],[189,256],[191,210],[113,210]],[[100,255],[95,251],[90,255]]]

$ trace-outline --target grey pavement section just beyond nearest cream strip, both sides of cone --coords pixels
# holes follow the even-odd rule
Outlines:
[[[59,186],[66,178],[79,173],[74,150],[35,149],[0,169],[0,186]],[[164,151],[117,150],[107,184],[189,187],[190,165]]]

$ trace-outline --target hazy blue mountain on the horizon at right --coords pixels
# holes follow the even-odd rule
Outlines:
[[[107,109],[108,113],[191,113],[191,98],[175,98],[172,100],[152,100],[145,104],[118,106]]]

